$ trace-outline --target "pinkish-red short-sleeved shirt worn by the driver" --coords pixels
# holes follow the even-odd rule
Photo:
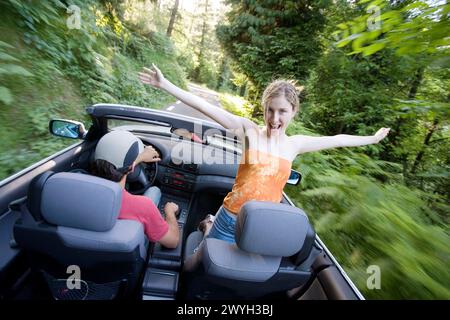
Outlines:
[[[145,196],[135,196],[126,190],[122,193],[119,219],[139,221],[152,242],[158,242],[169,231],[169,225],[159,213],[152,200]]]

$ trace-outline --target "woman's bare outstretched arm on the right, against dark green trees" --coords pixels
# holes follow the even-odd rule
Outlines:
[[[378,143],[389,133],[390,128],[381,128],[373,136],[338,134],[329,137],[293,136],[297,154],[338,147],[358,147]]]

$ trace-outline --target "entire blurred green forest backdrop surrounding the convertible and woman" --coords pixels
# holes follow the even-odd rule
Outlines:
[[[88,128],[90,104],[174,102],[138,81],[151,63],[259,123],[264,87],[295,79],[289,134],[391,132],[298,157],[290,198],[366,298],[450,299],[449,13],[449,1],[3,0],[0,180],[73,143],[50,136],[51,118]]]

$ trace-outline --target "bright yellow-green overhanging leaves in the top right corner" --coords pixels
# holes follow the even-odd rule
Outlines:
[[[399,55],[427,53],[448,62],[450,44],[450,3],[413,1],[399,8],[387,0],[370,2],[366,14],[338,24],[338,47],[351,44],[352,53],[372,55],[394,48]]]

